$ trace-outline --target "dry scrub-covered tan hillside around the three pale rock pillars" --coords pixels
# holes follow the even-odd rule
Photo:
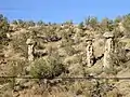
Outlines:
[[[123,30],[120,30],[120,24]],[[27,77],[29,74],[37,78],[38,80],[32,81],[21,80],[23,82],[20,86],[22,89],[15,89],[16,92],[12,93],[22,96],[22,92],[25,92],[24,95],[32,93],[32,95],[42,95],[42,97],[47,94],[57,97],[63,97],[63,95],[64,97],[129,97],[123,96],[123,92],[130,88],[128,86],[128,88],[121,89],[123,84],[120,80],[92,79],[118,77],[118,73],[122,73],[123,77],[123,73],[128,72],[127,70],[130,69],[129,25],[130,14],[118,16],[115,19],[103,18],[101,22],[98,20],[98,17],[89,16],[78,25],[75,25],[73,20],[56,24],[16,19],[9,23],[6,17],[0,15],[0,74],[12,77]],[[109,59],[112,67],[102,70],[103,43],[105,43],[103,33],[105,31],[114,32],[115,51]],[[6,33],[9,34],[6,36]],[[36,42],[35,52],[40,51],[34,61],[27,60],[26,41],[30,37]],[[89,68],[86,65],[86,39],[90,37],[95,39],[93,46],[98,59]],[[41,52],[44,55],[40,55]],[[30,67],[29,73],[26,73],[28,67]],[[127,73],[128,78],[129,75],[130,73]],[[66,77],[87,77],[88,79],[83,79],[84,81],[77,79],[55,80],[55,78]],[[42,78],[47,79],[47,82]],[[14,89],[16,81],[15,78],[9,80],[1,78],[0,96],[3,94],[9,96],[8,88]],[[8,86],[6,83],[9,83]],[[125,82],[125,84],[128,83]],[[2,89],[4,86],[5,88]],[[44,86],[46,89],[43,89]]]

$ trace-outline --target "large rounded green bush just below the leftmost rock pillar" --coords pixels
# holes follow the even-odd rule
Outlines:
[[[53,79],[64,70],[65,68],[62,63],[54,57],[48,57],[48,59],[39,58],[31,65],[30,75],[38,79]]]

